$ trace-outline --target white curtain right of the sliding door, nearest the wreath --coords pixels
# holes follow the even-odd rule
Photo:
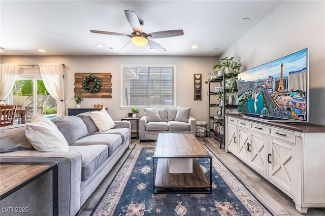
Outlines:
[[[64,116],[64,89],[61,64],[39,64],[43,83],[57,101],[57,116]]]

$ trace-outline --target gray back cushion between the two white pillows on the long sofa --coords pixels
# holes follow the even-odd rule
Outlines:
[[[60,116],[51,121],[61,131],[69,146],[77,139],[89,135],[85,123],[76,116]]]

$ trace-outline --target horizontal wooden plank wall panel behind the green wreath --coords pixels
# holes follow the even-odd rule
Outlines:
[[[81,87],[85,77],[89,74],[101,80],[101,89],[98,92],[90,93]],[[89,83],[91,85],[91,83]],[[83,98],[112,98],[112,74],[111,73],[75,73],[75,95]]]

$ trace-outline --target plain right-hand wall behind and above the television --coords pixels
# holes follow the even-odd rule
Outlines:
[[[222,57],[235,56],[250,69],[309,48],[309,123],[325,125],[324,23],[324,1],[286,1]]]

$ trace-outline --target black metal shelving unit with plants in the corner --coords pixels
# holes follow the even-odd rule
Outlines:
[[[225,75],[223,74],[222,76],[216,77],[215,79],[211,80],[209,82],[209,125],[208,125],[208,131],[209,131],[209,136],[211,135],[218,139],[220,141],[220,149],[224,148],[224,138],[225,138],[225,130],[224,130],[224,114],[226,112],[231,113],[232,109],[237,109],[238,105],[234,104],[223,104],[220,105],[220,103],[214,103],[214,100],[212,100],[211,97],[214,95],[218,95],[218,93],[212,91],[215,87],[222,87],[224,80],[225,80]],[[234,93],[237,93],[238,90],[235,89]],[[226,94],[230,93],[230,89],[222,88],[222,94],[223,97]],[[221,110],[222,116],[218,116],[217,119],[214,118],[216,113],[213,113],[211,111],[212,108],[216,108],[217,110]],[[217,127],[217,128],[216,128]],[[223,147],[222,147],[223,146]]]

